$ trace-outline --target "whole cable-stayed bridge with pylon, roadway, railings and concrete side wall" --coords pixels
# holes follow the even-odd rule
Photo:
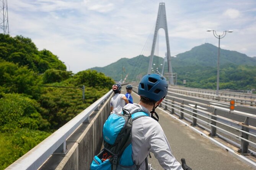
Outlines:
[[[148,74],[160,28],[166,35],[170,87],[157,112],[176,159],[186,158],[193,170],[256,169],[256,95],[227,91],[216,95],[212,90],[174,86],[164,3],[158,10]],[[136,85],[133,90],[137,103]],[[90,169],[93,156],[102,147],[102,127],[112,96],[112,91],[106,93],[7,169]],[[234,110],[230,100],[235,101]],[[155,169],[162,169],[154,157],[149,161]]]

